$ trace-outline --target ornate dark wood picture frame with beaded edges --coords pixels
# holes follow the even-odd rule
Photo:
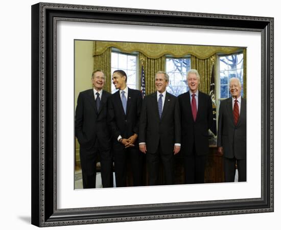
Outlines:
[[[57,209],[58,20],[261,32],[261,197]],[[273,18],[51,3],[38,3],[32,6],[32,224],[42,227],[261,212],[273,212]]]

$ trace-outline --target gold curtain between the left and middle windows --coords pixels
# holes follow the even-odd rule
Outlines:
[[[158,71],[165,71],[166,58],[161,56],[159,58],[149,58],[143,53],[139,53],[139,75],[142,76],[142,63],[144,65],[145,81],[146,81],[146,95],[154,93],[155,91],[155,74]],[[141,77],[139,77],[139,85]]]

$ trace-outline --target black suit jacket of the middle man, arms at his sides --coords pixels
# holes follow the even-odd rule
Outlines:
[[[166,92],[161,119],[159,117],[157,92],[144,98],[139,123],[139,143],[145,142],[147,151],[155,153],[159,141],[163,154],[172,154],[174,144],[180,144],[180,114],[178,99]]]

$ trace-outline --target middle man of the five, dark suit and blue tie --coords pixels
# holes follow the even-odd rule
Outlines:
[[[166,91],[168,84],[169,75],[157,72],[157,91],[144,98],[140,116],[139,150],[147,157],[150,186],[157,185],[160,159],[166,185],[173,184],[173,154],[180,150],[178,99]]]

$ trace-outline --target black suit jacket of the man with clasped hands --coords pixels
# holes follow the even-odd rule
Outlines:
[[[128,139],[134,133],[138,134],[142,102],[142,93],[139,90],[128,88],[125,114],[119,90],[108,99],[108,123],[111,127],[114,148],[124,148],[117,141],[119,135]],[[137,142],[135,142],[134,148],[138,148]]]

